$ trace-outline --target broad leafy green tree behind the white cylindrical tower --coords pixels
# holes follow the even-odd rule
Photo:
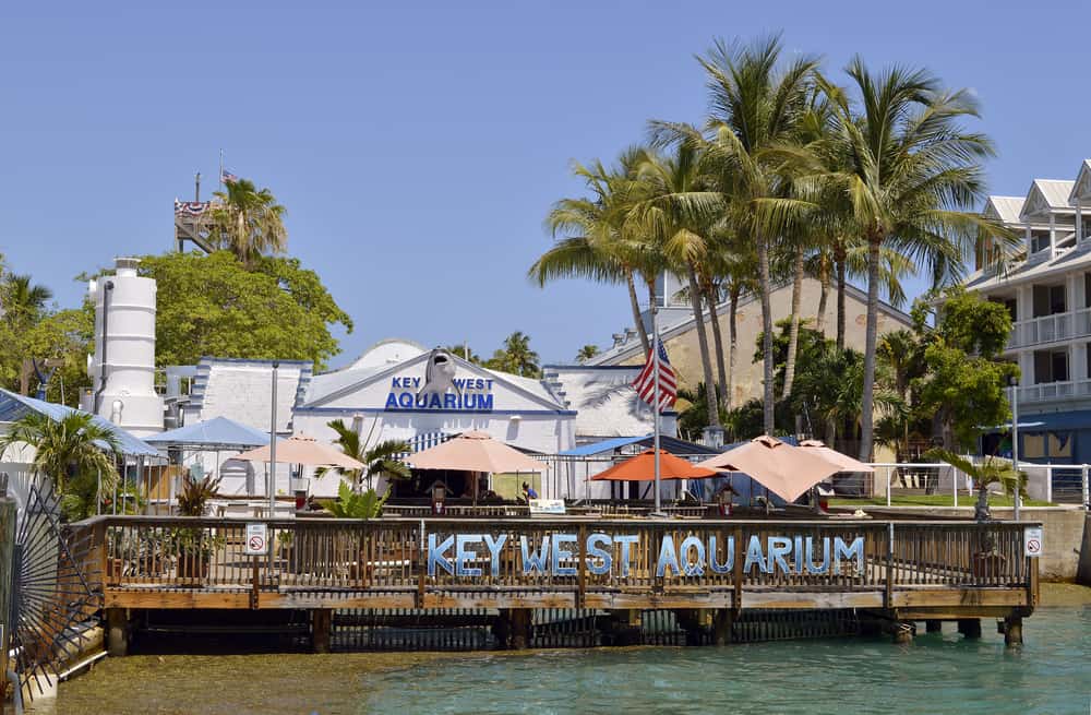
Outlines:
[[[156,365],[202,356],[311,360],[337,354],[332,327],[352,321],[319,276],[293,258],[256,257],[248,271],[229,251],[165,253],[141,260],[158,283]]]

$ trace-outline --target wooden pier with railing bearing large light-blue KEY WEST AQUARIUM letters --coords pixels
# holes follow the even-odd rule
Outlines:
[[[247,556],[255,522],[271,548]],[[321,627],[351,608],[500,609],[515,621],[526,609],[675,609],[711,611],[712,622],[858,609],[890,623],[996,618],[1016,632],[1039,588],[1028,525],[1010,522],[100,516],[76,526],[94,535],[108,613],[304,609]]]

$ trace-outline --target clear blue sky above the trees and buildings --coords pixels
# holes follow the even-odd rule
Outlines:
[[[343,364],[388,336],[523,330],[547,361],[608,344],[621,287],[525,275],[573,158],[649,118],[699,121],[693,59],[783,29],[835,76],[854,52],[981,98],[994,193],[1091,156],[1084,2],[8,2],[0,5],[0,252],[49,285],[169,250],[172,201],[218,152],[288,207],[289,249],[352,315]]]

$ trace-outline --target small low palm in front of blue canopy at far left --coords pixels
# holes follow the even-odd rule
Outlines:
[[[70,520],[88,516],[95,504],[118,486],[121,443],[113,430],[95,422],[94,415],[73,410],[52,419],[27,413],[0,437],[0,454],[15,444],[34,448],[32,464],[52,479]]]

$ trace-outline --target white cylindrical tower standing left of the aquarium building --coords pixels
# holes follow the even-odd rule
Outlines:
[[[87,362],[87,409],[136,437],[163,431],[155,392],[155,279],[136,275],[139,259],[117,259],[111,276],[92,281],[95,355]]]

